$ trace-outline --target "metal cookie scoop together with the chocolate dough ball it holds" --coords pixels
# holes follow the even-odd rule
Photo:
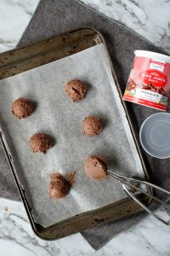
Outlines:
[[[151,212],[148,207],[145,207],[144,204],[139,201],[137,198],[137,195],[139,193],[142,193],[144,195],[148,195],[151,199],[154,199],[161,203],[161,205],[165,207],[170,207],[169,204],[165,201],[161,201],[159,198],[157,198],[154,195],[150,194],[150,190],[152,189],[158,189],[161,192],[167,193],[167,195],[170,195],[170,192],[166,189],[161,189],[160,187],[156,186],[155,184],[149,183],[144,181],[141,177],[126,177],[123,175],[119,175],[115,172],[111,172],[107,170],[106,166],[106,160],[104,156],[101,155],[93,155],[88,157],[84,162],[84,171],[86,172],[86,175],[90,178],[93,178],[95,180],[101,180],[107,177],[107,175],[110,175],[111,177],[115,177],[122,183],[122,187],[126,194],[132,198],[134,201],[136,201],[140,207],[142,207],[146,212],[150,213],[150,215],[154,216],[158,220],[160,220],[163,224],[169,224],[169,221],[165,221],[164,219],[160,218],[156,213]]]

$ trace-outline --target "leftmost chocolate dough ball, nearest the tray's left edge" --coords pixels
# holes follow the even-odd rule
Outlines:
[[[26,119],[33,112],[33,104],[26,98],[19,98],[12,105],[12,113],[18,119]]]

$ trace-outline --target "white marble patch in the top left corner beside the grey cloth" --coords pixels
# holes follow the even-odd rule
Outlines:
[[[0,0],[0,52],[13,49],[39,0]]]

